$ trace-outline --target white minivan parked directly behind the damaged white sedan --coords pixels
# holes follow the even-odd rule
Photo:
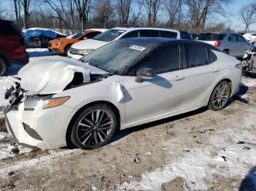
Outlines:
[[[68,56],[71,58],[80,59],[83,57],[83,55],[87,55],[105,44],[118,39],[127,39],[132,37],[165,37],[181,39],[181,32],[168,28],[147,28],[133,26],[111,28],[92,39],[73,44],[69,49]]]

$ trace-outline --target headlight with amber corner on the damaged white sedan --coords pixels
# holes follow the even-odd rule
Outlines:
[[[25,109],[35,109],[39,101],[43,101],[42,109],[48,109],[55,106],[60,106],[64,104],[70,97],[61,97],[61,98],[47,98],[47,99],[39,99],[39,98],[28,98],[24,102]]]

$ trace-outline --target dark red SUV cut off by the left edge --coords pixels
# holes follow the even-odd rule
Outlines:
[[[28,62],[22,31],[12,21],[0,19],[0,77],[7,74],[9,66]]]

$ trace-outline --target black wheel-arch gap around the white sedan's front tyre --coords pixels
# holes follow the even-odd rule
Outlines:
[[[105,104],[107,106],[110,106],[114,110],[114,112],[116,114],[116,117],[118,119],[118,127],[117,128],[118,128],[118,130],[120,130],[121,114],[120,114],[118,108],[113,103],[111,103],[110,101],[93,101],[93,102],[91,102],[89,104],[86,104],[85,106],[82,106],[80,109],[78,109],[78,111],[75,112],[75,114],[73,115],[72,119],[69,121],[69,125],[68,125],[67,131],[66,131],[66,142],[67,142],[67,145],[72,146],[72,143],[68,139],[68,135],[69,135],[69,133],[72,130],[72,124],[75,122],[76,118],[78,117],[78,114],[80,114],[80,112],[82,112],[83,109],[85,109],[86,107],[93,106],[95,104]]]

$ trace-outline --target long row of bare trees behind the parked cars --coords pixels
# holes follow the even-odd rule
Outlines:
[[[58,28],[75,33],[85,28],[166,26],[198,33],[233,31],[216,18],[227,15],[231,0],[9,0],[9,15],[20,28]],[[0,6],[1,7],[1,6]],[[0,17],[3,17],[0,8]],[[238,12],[245,31],[256,23],[256,5]],[[228,15],[227,15],[228,16]]]

